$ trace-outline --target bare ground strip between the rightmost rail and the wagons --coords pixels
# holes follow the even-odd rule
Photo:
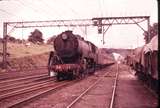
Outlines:
[[[127,65],[119,65],[115,108],[158,108],[155,96]]]

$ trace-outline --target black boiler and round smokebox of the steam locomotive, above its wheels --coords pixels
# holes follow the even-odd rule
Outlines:
[[[59,34],[54,40],[54,49],[64,63],[77,63],[81,58],[96,61],[97,47],[72,31]]]

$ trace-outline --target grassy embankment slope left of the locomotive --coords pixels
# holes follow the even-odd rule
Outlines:
[[[2,54],[2,44],[0,44],[0,53]],[[46,66],[49,52],[53,51],[52,45],[35,45],[25,46],[24,44],[8,43],[7,57],[8,69],[30,69],[39,66]],[[2,55],[0,55],[2,61]],[[0,62],[1,62],[0,61]]]

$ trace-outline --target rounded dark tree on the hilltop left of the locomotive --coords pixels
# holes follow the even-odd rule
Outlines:
[[[28,41],[32,43],[43,43],[44,39],[42,32],[38,29],[35,29],[33,32],[31,32],[31,35],[28,37]]]

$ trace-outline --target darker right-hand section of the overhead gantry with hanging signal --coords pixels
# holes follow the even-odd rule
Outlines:
[[[150,16],[132,16],[132,17],[101,17],[93,18],[94,25],[98,27],[99,33],[103,33],[103,44],[104,44],[104,35],[112,25],[124,25],[124,24],[136,24],[143,31],[146,31],[139,23],[147,20],[147,28],[149,30],[150,25]],[[108,26],[106,29],[105,26]],[[150,34],[148,34],[150,40]]]

